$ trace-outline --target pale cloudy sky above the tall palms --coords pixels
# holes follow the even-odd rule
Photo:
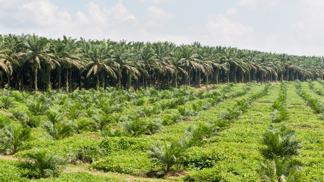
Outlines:
[[[324,55],[323,0],[0,0],[0,34]]]

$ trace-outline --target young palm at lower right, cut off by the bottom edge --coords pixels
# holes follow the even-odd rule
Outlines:
[[[304,181],[302,163],[298,160],[275,158],[263,160],[259,165],[261,180],[264,182]]]

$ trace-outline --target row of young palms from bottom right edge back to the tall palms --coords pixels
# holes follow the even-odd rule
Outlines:
[[[280,91],[272,105],[273,123],[262,134],[259,152],[263,159],[259,164],[262,181],[304,181],[303,164],[298,160],[301,141],[296,139],[296,131],[283,122],[289,118],[286,108],[287,84],[280,84]]]

